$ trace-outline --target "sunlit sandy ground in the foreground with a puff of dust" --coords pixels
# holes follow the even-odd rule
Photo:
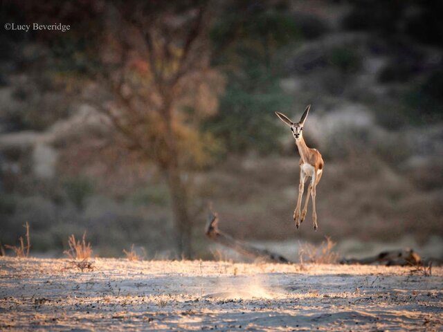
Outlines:
[[[0,331],[443,331],[443,268],[0,257]]]

